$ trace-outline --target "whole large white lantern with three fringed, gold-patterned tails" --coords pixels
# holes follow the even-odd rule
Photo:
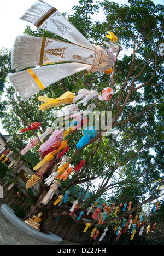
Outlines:
[[[34,3],[20,19],[73,43],[28,35],[16,37],[11,65],[17,71],[30,69],[9,74],[8,78],[23,100],[82,70],[108,71],[116,61],[109,49],[92,45],[56,8],[43,0]],[[59,62],[62,64],[54,65]],[[45,64],[53,65],[42,66]]]

